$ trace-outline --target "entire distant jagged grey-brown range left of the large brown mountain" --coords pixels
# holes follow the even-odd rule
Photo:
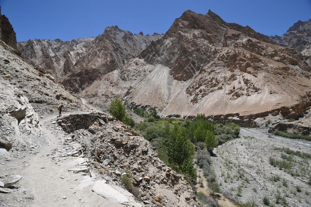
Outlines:
[[[17,46],[31,64],[45,69],[68,89],[79,92],[161,37],[157,33],[132,34],[111,26],[98,37],[66,42],[35,39],[19,42]]]

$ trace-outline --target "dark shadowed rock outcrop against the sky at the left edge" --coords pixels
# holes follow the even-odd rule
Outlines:
[[[5,42],[7,45],[17,49],[16,46],[16,33],[12,27],[12,24],[9,22],[9,19],[1,14],[0,7],[0,40]]]

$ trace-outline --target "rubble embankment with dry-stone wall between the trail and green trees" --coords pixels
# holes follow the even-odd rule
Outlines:
[[[145,205],[197,204],[184,176],[166,166],[147,140],[114,117],[100,113],[75,114],[59,118],[57,123],[67,132],[76,129],[65,143],[68,142],[68,148],[73,145],[81,148],[63,156],[85,156],[93,164],[81,168],[84,172],[90,170],[87,172],[91,176],[98,174],[97,177],[102,174],[107,183],[119,186],[124,186],[121,177],[129,176],[139,190],[137,199]]]

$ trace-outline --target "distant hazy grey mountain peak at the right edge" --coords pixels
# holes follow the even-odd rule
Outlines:
[[[311,43],[311,19],[305,22],[299,20],[283,36],[269,38],[278,45],[292,47],[301,52]]]

